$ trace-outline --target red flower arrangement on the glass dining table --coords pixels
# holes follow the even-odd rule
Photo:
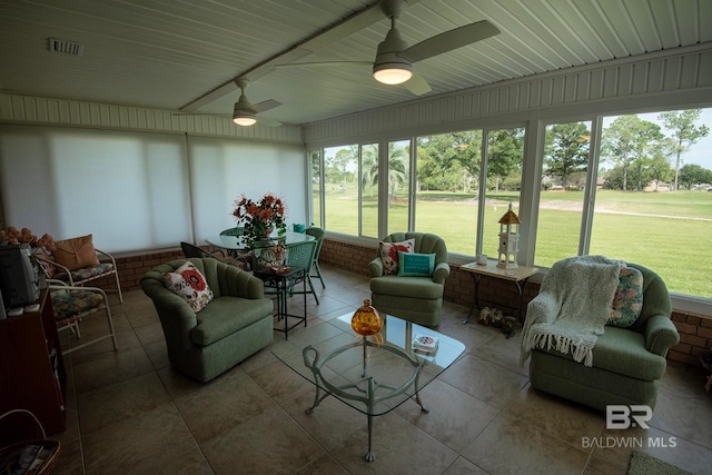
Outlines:
[[[233,210],[237,224],[245,224],[245,236],[250,241],[264,239],[269,235],[270,228],[276,228],[280,236],[284,235],[287,231],[286,214],[281,198],[271,194],[266,194],[259,201],[253,201],[243,195],[239,200],[235,200]]]

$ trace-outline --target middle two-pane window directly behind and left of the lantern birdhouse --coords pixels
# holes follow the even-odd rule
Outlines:
[[[484,176],[483,133],[487,137]],[[482,222],[482,251],[496,255],[497,221],[510,202],[515,212],[518,205],[524,129],[423,136],[417,146],[415,229],[442,236],[452,253],[474,255]]]

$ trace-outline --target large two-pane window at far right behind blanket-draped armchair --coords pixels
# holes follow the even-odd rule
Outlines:
[[[535,265],[600,254],[650,267],[671,291],[712,298],[712,158],[709,142],[696,147],[705,118],[711,109],[604,117],[597,157],[592,122],[547,126]]]

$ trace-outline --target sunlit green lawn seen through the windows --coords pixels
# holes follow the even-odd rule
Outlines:
[[[496,256],[500,225],[512,192],[487,194],[483,251]],[[389,229],[405,229],[407,208],[389,209]],[[451,251],[474,255],[476,195],[419,192],[416,229],[441,235]],[[535,265],[550,267],[577,254],[583,192],[545,191],[540,200]],[[356,234],[358,200],[355,190],[326,195],[327,229]],[[375,201],[364,205],[363,235],[376,236]],[[663,277],[671,290],[712,298],[712,192],[596,192],[591,248],[642,264]]]

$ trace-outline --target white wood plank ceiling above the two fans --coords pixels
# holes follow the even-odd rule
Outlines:
[[[374,0],[0,0],[3,91],[231,113],[248,77],[264,112],[309,123],[416,98],[376,82],[389,22]],[[511,78],[712,41],[709,0],[409,0],[408,44],[471,22],[502,32],[414,65],[443,93]],[[335,27],[329,31],[330,28]],[[80,56],[50,52],[50,38]],[[295,48],[301,44],[303,48]],[[308,49],[304,50],[304,47]]]

